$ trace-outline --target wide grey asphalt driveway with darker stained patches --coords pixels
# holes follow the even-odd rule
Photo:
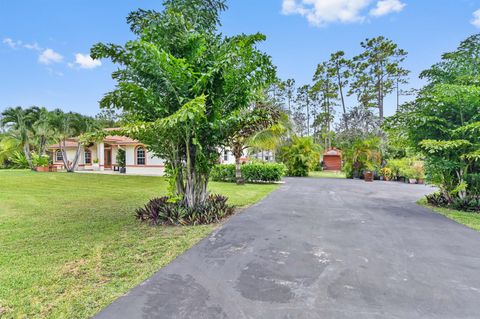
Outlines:
[[[97,318],[480,318],[480,233],[428,192],[287,179]]]

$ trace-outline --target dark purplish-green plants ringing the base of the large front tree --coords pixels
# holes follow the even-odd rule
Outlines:
[[[217,223],[233,214],[234,207],[227,204],[228,198],[210,195],[205,203],[192,209],[183,201],[170,197],[154,198],[145,207],[136,210],[137,219],[151,225],[206,225]]]

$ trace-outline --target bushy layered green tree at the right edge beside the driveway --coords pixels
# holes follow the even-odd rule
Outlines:
[[[427,178],[447,203],[474,202],[480,169],[480,35],[422,72],[428,84],[387,122],[392,135],[425,158]],[[470,184],[469,184],[470,181]]]

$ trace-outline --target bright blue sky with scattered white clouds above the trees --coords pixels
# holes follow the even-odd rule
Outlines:
[[[136,8],[159,9],[159,0],[0,1],[0,111],[45,106],[94,115],[113,88],[115,66],[92,61],[96,42],[123,44]],[[357,54],[367,37],[386,36],[409,52],[411,86],[418,73],[480,32],[480,0],[229,0],[222,31],[262,32],[262,48],[281,78],[310,82],[331,52]],[[394,110],[387,101],[387,115]]]

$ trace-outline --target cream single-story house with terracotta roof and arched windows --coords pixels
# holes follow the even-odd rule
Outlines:
[[[107,131],[114,130],[107,129]],[[77,148],[77,139],[72,138],[67,141],[66,152],[67,159],[70,162],[75,158]],[[114,166],[117,165],[116,157],[119,149],[125,150],[127,173],[163,175],[165,170],[165,161],[163,159],[151,154],[144,144],[129,137],[118,135],[106,136],[99,143],[95,143],[88,148],[82,147],[76,169],[79,171],[113,170]],[[58,144],[50,145],[49,151],[53,164],[63,168],[63,154],[60,151],[60,146]]]

